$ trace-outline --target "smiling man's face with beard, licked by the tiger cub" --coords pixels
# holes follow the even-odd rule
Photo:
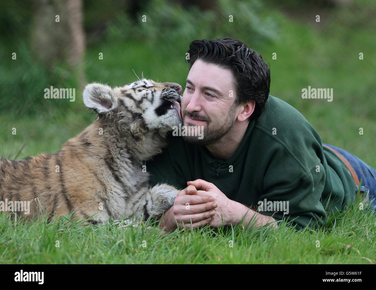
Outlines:
[[[183,136],[191,143],[210,145],[230,131],[237,118],[232,71],[198,59],[186,80],[182,98],[184,126],[203,126],[203,139]]]

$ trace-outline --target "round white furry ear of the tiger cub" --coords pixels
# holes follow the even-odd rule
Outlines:
[[[83,103],[97,113],[105,113],[117,106],[111,87],[100,83],[91,83],[82,93]]]

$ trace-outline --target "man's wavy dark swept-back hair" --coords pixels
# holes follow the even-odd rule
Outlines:
[[[188,53],[189,69],[197,59],[231,69],[238,96],[235,104],[255,100],[255,110],[249,119],[260,116],[270,91],[270,69],[261,54],[234,38],[194,40],[189,45]]]

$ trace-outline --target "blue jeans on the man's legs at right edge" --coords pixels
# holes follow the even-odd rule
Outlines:
[[[324,144],[324,143],[323,143]],[[372,202],[372,207],[374,208],[374,213],[376,211],[376,170],[373,169],[371,166],[360,160],[358,157],[354,156],[353,154],[334,147],[329,144],[325,144],[343,155],[354,168],[356,175],[358,175],[359,181],[361,181],[361,192],[366,192],[369,190],[368,200],[375,199]],[[356,186],[356,192],[358,192],[358,186]]]

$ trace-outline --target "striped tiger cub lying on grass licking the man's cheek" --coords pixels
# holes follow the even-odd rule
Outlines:
[[[144,160],[161,152],[165,136],[181,123],[177,83],[138,80],[112,89],[92,83],[83,91],[96,121],[55,154],[0,159],[0,211],[48,221],[69,213],[89,223],[130,216],[160,218],[178,191],[149,188]],[[13,215],[13,214],[12,214]]]

